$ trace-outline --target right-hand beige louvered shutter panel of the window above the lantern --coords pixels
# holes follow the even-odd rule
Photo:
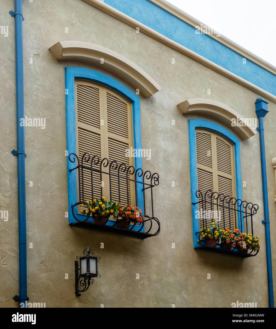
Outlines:
[[[106,97],[105,97],[106,96]],[[107,117],[107,145],[109,162],[113,160],[118,162],[118,165],[125,163],[134,165],[134,159],[126,157],[126,149],[133,147],[133,132],[132,132],[132,113],[131,104],[123,97],[115,94],[111,90],[105,90],[104,101]],[[118,170],[111,170],[111,174],[118,176]],[[133,204],[134,184],[126,182],[126,172],[120,172],[123,178],[111,176],[111,192],[112,200],[120,203]],[[128,178],[134,179],[134,175]],[[119,193],[120,190],[120,193]],[[120,194],[120,195],[119,195]]]

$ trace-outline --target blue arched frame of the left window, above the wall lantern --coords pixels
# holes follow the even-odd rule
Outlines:
[[[141,129],[140,129],[140,100],[138,95],[122,85],[115,79],[82,67],[66,67],[65,68],[65,107],[66,107],[66,140],[68,154],[76,154],[76,114],[75,114],[75,79],[85,79],[104,85],[110,89],[113,89],[127,100],[132,103],[132,118],[133,118],[133,144],[134,148],[141,148]],[[142,159],[140,157],[134,158],[135,169],[142,168]],[[77,175],[75,171],[69,172],[70,169],[76,166],[76,162],[72,163],[67,157],[67,169],[68,169],[68,209],[69,209],[69,224],[76,223],[76,219],[72,215],[71,206],[77,201]],[[137,178],[138,180],[139,178]],[[140,187],[138,186],[140,185]],[[137,198],[138,207],[143,209],[143,192],[141,184],[137,183]],[[83,220],[83,216],[77,213],[77,207],[74,208],[74,214],[79,220]],[[92,218],[87,220],[93,222]],[[114,221],[108,220],[106,225],[113,225]],[[139,230],[139,227],[135,226],[133,230]],[[144,228],[141,230],[144,232]]]

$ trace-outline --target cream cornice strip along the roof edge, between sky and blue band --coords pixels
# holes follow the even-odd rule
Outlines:
[[[198,27],[198,26],[199,27],[200,26],[207,26],[206,24],[200,22],[199,20],[192,17],[191,15],[183,12],[181,9],[175,7],[174,5],[172,5],[171,3],[169,3],[166,0],[148,0],[148,1],[154,3],[158,7],[166,10],[166,12],[171,13],[172,15],[176,16],[177,18],[181,19],[185,23],[188,23],[189,25],[191,25],[195,28]],[[200,30],[202,31],[202,29],[200,29]],[[276,67],[275,66],[273,66],[272,64],[264,61],[263,59],[256,56],[255,54],[251,53],[247,49],[241,47],[240,45],[238,45],[234,41],[232,41],[232,40],[230,40],[230,39],[228,39],[228,38],[226,38],[225,36],[222,36],[222,35],[217,36],[216,34],[209,34],[209,33],[206,33],[206,34],[209,37],[217,40],[218,42],[220,42],[220,43],[224,44],[225,46],[229,47],[230,49],[234,50],[235,52],[241,54],[243,57],[249,59],[250,61],[252,61],[252,62],[254,62],[258,65],[260,65],[261,67],[265,68],[266,70],[268,70],[271,73],[276,75]]]

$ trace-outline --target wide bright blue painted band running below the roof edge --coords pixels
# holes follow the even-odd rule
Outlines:
[[[105,0],[105,3],[136,19],[165,37],[220,65],[276,96],[276,77],[256,63],[166,12],[148,0]]]

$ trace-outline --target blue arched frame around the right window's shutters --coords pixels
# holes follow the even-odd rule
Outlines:
[[[189,120],[189,145],[190,145],[190,176],[191,176],[191,193],[192,193],[192,216],[193,216],[193,237],[194,248],[200,247],[198,237],[196,235],[199,232],[199,220],[196,219],[196,211],[199,210],[199,205],[194,204],[198,202],[196,197],[196,191],[198,190],[198,175],[197,175],[197,155],[196,155],[196,129],[207,129],[217,134],[220,134],[224,138],[228,139],[234,145],[234,161],[235,161],[235,181],[236,181],[236,199],[242,200],[242,183],[241,183],[241,168],[240,168],[240,142],[230,131],[224,127],[202,119]]]

